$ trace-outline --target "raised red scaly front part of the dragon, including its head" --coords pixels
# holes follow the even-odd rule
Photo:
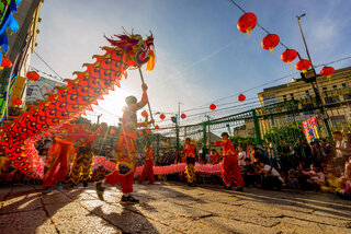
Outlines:
[[[38,106],[21,112],[0,129],[0,143],[14,165],[32,178],[42,178],[44,162],[34,148],[36,140],[53,136],[66,122],[86,110],[92,110],[99,98],[120,86],[122,75],[127,77],[131,67],[154,62],[154,38],[139,35],[121,35],[117,40],[107,38],[112,47],[102,47],[103,56],[93,56],[94,63],[84,63],[82,72],[73,72],[75,80],[65,80],[66,86],[55,87]],[[151,58],[151,59],[150,59]],[[147,65],[154,68],[154,65]]]

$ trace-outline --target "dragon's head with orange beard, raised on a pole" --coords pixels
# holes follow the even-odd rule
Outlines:
[[[135,67],[141,67],[146,63],[146,70],[151,71],[155,67],[155,47],[152,34],[146,39],[139,34],[115,35],[118,39],[105,37],[112,46],[116,46],[131,54],[135,61]]]

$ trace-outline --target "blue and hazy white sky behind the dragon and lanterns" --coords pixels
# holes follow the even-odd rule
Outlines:
[[[296,15],[306,13],[301,23],[315,66],[351,56],[349,0],[235,1],[246,12],[254,13],[260,25],[278,34],[284,45],[303,58],[307,55]],[[93,55],[103,54],[100,47],[109,45],[104,35],[122,34],[122,27],[143,36],[151,31],[156,67],[151,72],[144,69],[144,77],[154,114],[167,116],[161,122],[158,115],[155,119],[161,127],[169,126],[170,116],[180,107],[188,116],[181,124],[195,124],[206,116],[218,118],[253,107],[258,105],[257,93],[263,87],[299,77],[294,65],[288,69],[281,61],[284,47],[278,46],[273,55],[261,48],[261,39],[267,35],[263,30],[257,26],[249,37],[237,30],[242,14],[230,0],[44,1],[35,52],[60,77],[73,79],[73,71],[84,70],[82,63],[93,62]],[[350,65],[348,59],[332,66],[340,69]],[[35,54],[31,66],[55,74]],[[320,69],[316,71],[319,73]],[[125,97],[140,98],[138,71],[128,71],[121,85],[99,101],[99,106],[86,117],[97,121],[102,114],[100,121],[117,125]],[[244,103],[237,101],[240,93],[247,96]],[[212,103],[217,109],[236,108],[211,112]]]

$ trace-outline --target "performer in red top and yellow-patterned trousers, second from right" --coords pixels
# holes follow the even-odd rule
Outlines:
[[[191,142],[190,138],[185,139],[184,149],[182,153],[185,154],[186,166],[185,166],[185,176],[188,185],[191,187],[195,186],[196,174],[195,174],[195,145]]]

